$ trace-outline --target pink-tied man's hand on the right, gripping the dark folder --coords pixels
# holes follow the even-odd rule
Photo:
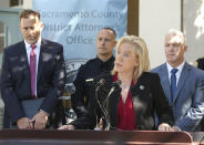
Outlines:
[[[34,122],[34,130],[45,128],[48,122],[48,114],[44,111],[37,113],[31,122]]]

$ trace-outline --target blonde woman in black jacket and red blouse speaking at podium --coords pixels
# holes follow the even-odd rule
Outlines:
[[[134,35],[121,38],[113,71],[94,79],[89,113],[60,130],[171,131],[172,110],[159,75],[149,71],[144,40]]]

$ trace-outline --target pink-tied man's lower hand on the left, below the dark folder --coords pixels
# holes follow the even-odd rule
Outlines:
[[[21,117],[17,121],[17,125],[20,130],[30,130],[33,128],[33,124],[28,117]]]

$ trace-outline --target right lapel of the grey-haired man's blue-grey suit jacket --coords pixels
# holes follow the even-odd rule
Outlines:
[[[184,66],[183,66],[183,70],[182,70],[182,73],[181,73],[181,76],[180,76],[180,80],[178,80],[178,83],[177,83],[177,87],[176,87],[176,92],[175,92],[175,97],[173,100],[173,103],[175,102],[175,100],[177,99],[178,96],[178,93],[181,92],[181,89],[183,87],[183,85],[185,84],[185,79],[187,77],[187,74],[188,74],[188,71],[190,71],[190,66],[188,64],[185,62]]]

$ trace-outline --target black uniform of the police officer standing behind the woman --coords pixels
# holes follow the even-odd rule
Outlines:
[[[114,56],[106,62],[101,61],[99,58],[88,61],[81,65],[76,74],[76,79],[73,84],[75,86],[75,93],[71,95],[71,104],[78,117],[81,117],[83,113],[86,113],[86,106],[89,99],[94,93],[91,84],[93,82],[86,82],[85,80],[94,79],[95,76],[110,72],[114,66]]]

